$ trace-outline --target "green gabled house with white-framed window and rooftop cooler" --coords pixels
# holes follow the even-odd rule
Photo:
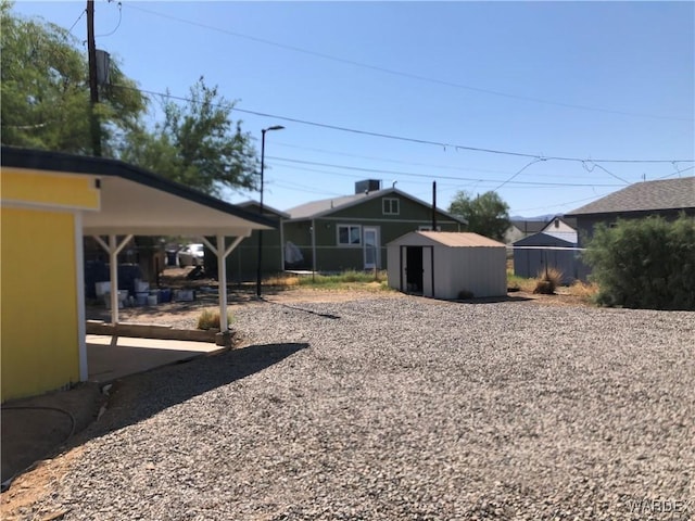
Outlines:
[[[462,231],[463,217],[432,206],[381,181],[355,183],[355,193],[288,209],[282,223],[285,265],[318,271],[382,269],[384,244],[417,230]],[[291,254],[290,259],[288,254]]]

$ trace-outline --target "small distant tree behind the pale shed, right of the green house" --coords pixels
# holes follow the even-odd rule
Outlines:
[[[509,228],[509,206],[496,192],[477,195],[459,191],[448,206],[448,213],[468,220],[468,231],[502,241]]]

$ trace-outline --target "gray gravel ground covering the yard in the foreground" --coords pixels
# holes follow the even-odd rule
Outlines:
[[[695,517],[693,313],[235,312],[250,347],[132,378],[27,518]]]

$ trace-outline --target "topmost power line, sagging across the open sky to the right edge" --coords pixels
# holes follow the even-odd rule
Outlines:
[[[362,67],[362,68],[367,68],[370,71],[377,71],[380,73],[386,73],[386,74],[390,74],[393,76],[401,76],[401,77],[405,77],[405,78],[409,78],[409,79],[417,79],[419,81],[427,81],[430,84],[437,84],[437,85],[444,85],[446,87],[454,87],[457,89],[465,89],[465,90],[469,90],[469,91],[473,91],[473,92],[481,92],[484,94],[490,94],[490,96],[497,96],[497,97],[502,97],[502,98],[509,98],[509,99],[514,99],[514,100],[521,100],[521,101],[527,101],[527,102],[532,102],[532,103],[541,103],[544,105],[555,105],[555,106],[563,106],[566,109],[577,109],[577,110],[582,110],[582,111],[593,111],[593,112],[603,112],[603,113],[607,113],[607,114],[618,114],[618,115],[622,115],[622,116],[633,116],[633,117],[648,117],[648,118],[655,118],[655,119],[673,119],[673,120],[683,120],[683,122],[692,122],[693,118],[687,118],[687,117],[675,117],[675,116],[664,116],[664,115],[656,115],[656,114],[642,114],[642,113],[633,113],[633,112],[626,112],[626,111],[615,111],[615,110],[609,110],[609,109],[601,109],[601,107],[595,107],[595,106],[589,106],[589,105],[579,105],[579,104],[572,104],[572,103],[561,103],[561,102],[555,102],[555,101],[547,101],[547,100],[541,100],[539,98],[531,98],[531,97],[526,97],[526,96],[519,96],[519,94],[511,94],[508,92],[502,92],[502,91],[497,91],[497,90],[491,90],[491,89],[483,89],[480,87],[472,87],[470,85],[464,85],[464,84],[457,84],[454,81],[447,81],[447,80],[443,80],[443,79],[438,79],[438,78],[431,78],[431,77],[427,77],[427,76],[420,76],[418,74],[413,74],[413,73],[407,73],[407,72],[403,72],[403,71],[395,71],[392,68],[387,68],[387,67],[381,67],[381,66],[377,66],[377,65],[370,65],[367,63],[363,63],[363,62],[357,62],[354,60],[349,60],[345,58],[340,58],[340,56],[334,56],[331,54],[325,54],[323,52],[317,52],[317,51],[312,51],[309,49],[303,49],[300,47],[294,47],[294,46],[288,46],[286,43],[279,43],[277,41],[271,41],[271,40],[266,40],[264,38],[258,38],[256,36],[250,36],[250,35],[244,35],[242,33],[237,33],[233,30],[229,30],[229,29],[223,29],[220,27],[214,27],[212,25],[207,25],[207,24],[203,24],[200,22],[194,22],[192,20],[186,20],[186,18],[179,18],[178,16],[173,16],[170,14],[164,14],[164,13],[159,13],[156,11],[152,11],[149,9],[144,9],[141,7],[136,7],[136,5],[128,5],[129,8],[149,13],[149,14],[153,14],[155,16],[161,16],[164,18],[168,18],[168,20],[174,20],[176,22],[180,22],[184,24],[189,24],[189,25],[194,25],[197,27],[201,27],[204,29],[210,29],[210,30],[215,30],[217,33],[222,33],[225,35],[229,35],[229,36],[235,36],[238,38],[243,38],[250,41],[255,41],[255,42],[260,42],[260,43],[264,43],[267,46],[273,46],[273,47],[277,47],[280,49],[286,49],[289,51],[294,51],[294,52],[300,52],[303,54],[308,54],[312,56],[317,56],[317,58],[321,58],[325,60],[330,60],[333,62],[338,62],[338,63],[344,63],[348,65],[353,65],[356,67]]]

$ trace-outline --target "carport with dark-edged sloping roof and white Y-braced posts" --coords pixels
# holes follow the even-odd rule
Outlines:
[[[204,239],[217,256],[220,331],[228,331],[226,257],[253,230],[276,223],[239,206],[173,182],[117,160],[2,148],[2,166],[25,176],[36,173],[90,179],[98,208],[74,211],[79,379],[88,378],[81,236],[92,236],[109,253],[111,288],[118,288],[117,255],[134,236],[213,237]],[[36,187],[40,192],[41,187]],[[81,237],[79,237],[81,239]],[[79,243],[79,244],[77,244]],[[111,321],[118,322],[118,294],[111,292]]]

